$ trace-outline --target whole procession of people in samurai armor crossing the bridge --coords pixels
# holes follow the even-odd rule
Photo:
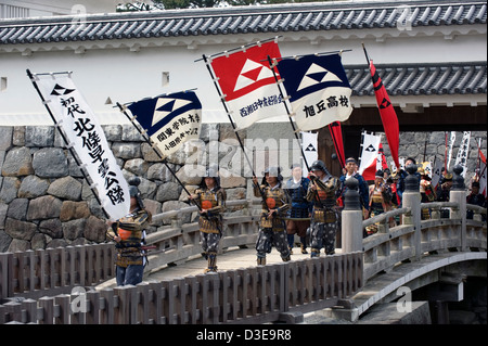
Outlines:
[[[415,164],[415,161],[408,158],[406,167],[410,164]],[[287,181],[283,181],[279,167],[267,168],[260,182],[253,177],[254,194],[261,200],[256,241],[257,265],[266,265],[266,256],[272,247],[277,248],[283,261],[288,261],[293,254],[295,235],[299,238],[303,254],[308,254],[308,244],[311,257],[320,256],[321,248],[324,248],[326,255],[334,254],[336,233],[341,227],[341,210],[348,189],[346,181],[352,177],[358,180],[360,205],[363,218],[367,219],[401,206],[404,179],[408,176],[402,169],[393,174],[387,169],[377,170],[374,182],[368,184],[358,172],[358,164],[352,157],[346,159],[341,177],[331,175],[320,159],[309,167],[308,177],[304,177],[299,164],[291,168],[292,177]],[[432,188],[423,169],[419,169],[415,175],[420,181],[422,202],[449,201],[452,175],[444,175],[437,190]],[[117,248],[117,285],[137,284],[142,281],[146,257],[145,229],[151,222],[151,213],[143,205],[137,188],[139,183],[139,178],[129,180],[129,215],[108,222],[107,235],[116,242]],[[467,196],[467,203],[486,207],[486,200],[483,194],[476,192],[476,187],[479,188],[479,183],[472,184],[473,192]],[[202,256],[207,260],[205,272],[215,272],[227,198],[226,191],[220,185],[218,170],[208,169],[201,187],[190,194],[189,198],[200,210]],[[391,219],[393,223],[397,221]],[[375,232],[377,226],[372,225],[364,229],[363,236]]]

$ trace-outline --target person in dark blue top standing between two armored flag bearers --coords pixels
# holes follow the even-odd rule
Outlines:
[[[285,184],[285,192],[292,202],[292,207],[286,215],[286,233],[292,254],[295,234],[300,238],[301,254],[308,254],[307,229],[310,227],[311,203],[306,197],[310,179],[303,177],[301,174],[301,166],[294,164],[292,178]]]

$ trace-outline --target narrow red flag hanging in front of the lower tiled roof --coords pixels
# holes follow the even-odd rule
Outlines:
[[[397,167],[400,167],[398,161],[398,150],[400,146],[400,129],[398,125],[397,114],[389,101],[388,93],[385,86],[383,86],[382,79],[376,72],[376,67],[373,65],[373,61],[370,60],[370,73],[373,79],[374,94],[376,95],[376,103],[382,117],[383,128],[385,130],[386,140],[391,152],[391,157]]]

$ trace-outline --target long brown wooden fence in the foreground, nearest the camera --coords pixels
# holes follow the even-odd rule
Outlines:
[[[332,307],[362,286],[362,253],[61,294],[0,306],[0,324],[265,323]]]

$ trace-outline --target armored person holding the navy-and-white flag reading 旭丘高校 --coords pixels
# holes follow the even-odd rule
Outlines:
[[[307,201],[313,204],[310,225],[311,257],[320,256],[324,247],[326,255],[335,253],[335,235],[338,229],[336,193],[339,180],[333,177],[325,164],[318,159],[310,166],[310,184]]]

